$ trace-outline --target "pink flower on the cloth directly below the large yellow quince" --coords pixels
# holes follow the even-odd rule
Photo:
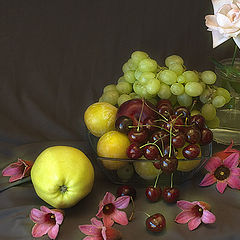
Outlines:
[[[55,239],[58,235],[59,225],[63,222],[63,212],[41,206],[40,210],[36,208],[31,210],[30,218],[35,223],[32,228],[33,237],[37,238],[48,234],[50,239]]]

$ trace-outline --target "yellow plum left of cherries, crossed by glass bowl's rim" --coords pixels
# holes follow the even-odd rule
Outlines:
[[[127,135],[118,131],[110,131],[101,136],[97,143],[98,156],[114,159],[101,160],[104,167],[109,170],[117,170],[128,164],[127,161],[118,161],[117,159],[127,159],[127,148],[129,145],[130,141]]]

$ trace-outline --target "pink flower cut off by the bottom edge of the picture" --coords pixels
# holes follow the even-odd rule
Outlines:
[[[91,219],[92,225],[79,225],[82,233],[88,235],[83,240],[120,240],[121,234],[112,227],[105,227],[96,218]]]

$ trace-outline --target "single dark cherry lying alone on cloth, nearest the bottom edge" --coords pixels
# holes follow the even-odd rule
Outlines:
[[[151,232],[161,232],[166,227],[166,219],[161,213],[155,213],[146,219],[146,228]]]

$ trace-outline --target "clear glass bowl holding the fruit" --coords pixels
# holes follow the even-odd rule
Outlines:
[[[147,159],[113,159],[104,158],[97,155],[98,139],[88,132],[88,139],[92,149],[96,155],[96,162],[104,175],[114,184],[153,184],[159,171],[154,167],[153,163],[157,160]],[[181,171],[173,174],[175,184],[181,184],[193,178],[206,164],[212,156],[212,143],[201,146],[201,157],[194,160],[178,159],[178,166]],[[111,166],[114,163],[121,163],[120,168],[111,170],[105,166]],[[191,170],[189,170],[191,169]],[[170,175],[161,173],[158,180],[159,184],[170,185]]]

